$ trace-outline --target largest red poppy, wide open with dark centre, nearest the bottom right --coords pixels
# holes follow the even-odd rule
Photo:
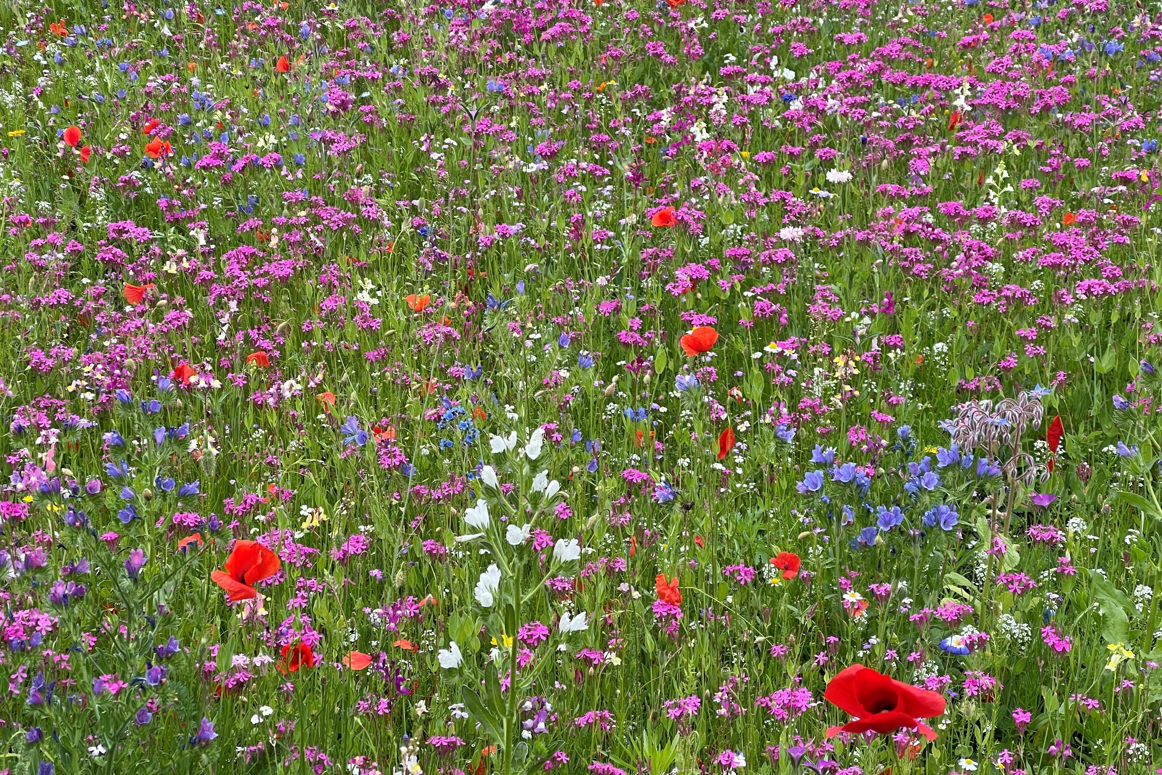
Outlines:
[[[945,711],[945,699],[939,693],[918,689],[862,665],[842,669],[827,684],[823,696],[855,717],[842,726],[830,727],[829,738],[841,731],[852,734],[867,731],[887,734],[916,727],[928,740],[935,740],[937,733],[920,719],[933,718]]]

